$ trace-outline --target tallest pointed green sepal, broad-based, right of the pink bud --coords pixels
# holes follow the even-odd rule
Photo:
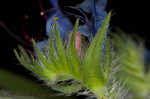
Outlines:
[[[111,13],[109,13],[105,18],[103,25],[91,42],[82,66],[83,82],[89,89],[92,90],[100,89],[101,87],[104,87],[105,84],[104,75],[102,72],[103,70],[100,66],[100,63],[102,63],[100,61],[100,57],[103,54],[103,41],[108,30],[110,16]]]

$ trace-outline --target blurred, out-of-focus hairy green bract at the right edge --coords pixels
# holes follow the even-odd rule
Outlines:
[[[144,68],[145,49],[124,33],[120,35],[113,35],[114,46],[118,49],[116,55],[120,57],[119,71],[115,77],[121,83],[125,82],[132,98],[145,99],[150,91],[150,72],[146,73]]]

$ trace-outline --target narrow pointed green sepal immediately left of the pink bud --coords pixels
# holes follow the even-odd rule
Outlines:
[[[68,48],[67,48],[67,57],[69,66],[71,68],[71,72],[76,79],[81,79],[80,72],[80,57],[78,56],[78,52],[75,45],[76,33],[78,32],[79,20],[76,21],[75,27],[73,29],[71,38],[69,40]]]

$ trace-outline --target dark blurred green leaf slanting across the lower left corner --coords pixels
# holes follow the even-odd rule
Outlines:
[[[4,76],[5,75],[5,76]],[[26,78],[16,75],[14,73],[8,72],[6,70],[0,70],[0,87],[8,89],[16,94],[23,95],[35,95],[37,93],[49,95],[49,89],[44,88],[41,85],[27,80]]]

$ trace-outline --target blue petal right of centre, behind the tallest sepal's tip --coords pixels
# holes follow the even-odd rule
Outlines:
[[[107,12],[105,11],[107,0],[85,0],[83,3],[78,5],[82,10],[88,13],[92,13],[92,18],[89,20],[90,26],[79,27],[81,34],[91,39],[95,36],[97,30],[101,27],[104,22]],[[83,33],[82,33],[83,32]]]

